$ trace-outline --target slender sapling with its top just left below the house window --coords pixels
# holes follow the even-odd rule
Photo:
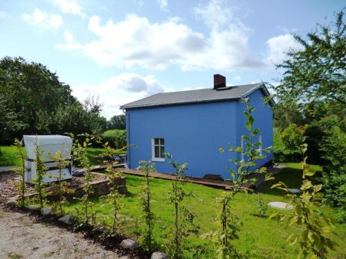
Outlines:
[[[155,171],[155,164],[149,161],[140,161],[141,166],[138,169],[145,174],[145,182],[143,184],[141,204],[143,220],[145,228],[143,230],[143,247],[147,249],[149,253],[153,251],[153,227],[154,227],[154,213],[152,212],[151,200],[152,195],[150,193],[149,186],[149,173]]]

